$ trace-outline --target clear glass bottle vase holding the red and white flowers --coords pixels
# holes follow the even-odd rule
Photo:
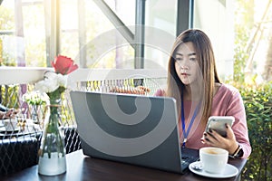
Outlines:
[[[38,173],[44,176],[56,176],[66,172],[64,138],[59,129],[60,100],[50,100],[50,103],[50,114],[45,121],[39,149]]]

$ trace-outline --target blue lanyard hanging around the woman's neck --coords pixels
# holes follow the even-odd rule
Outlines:
[[[188,129],[187,129],[187,131],[186,131],[186,130],[185,130],[184,107],[183,107],[183,93],[181,93],[181,123],[182,123],[183,136],[184,136],[184,140],[183,140],[183,143],[182,143],[182,147],[185,147],[185,143],[186,143],[187,137],[188,137],[188,135],[189,135],[189,130],[191,129],[191,126],[192,126],[194,120],[196,119],[196,117],[197,117],[197,115],[198,115],[200,102],[201,102],[201,101],[199,101],[199,104],[198,104],[197,108],[196,108],[195,111],[194,111],[193,117],[192,117],[192,118],[190,119],[190,121],[189,121],[189,127],[188,127]]]

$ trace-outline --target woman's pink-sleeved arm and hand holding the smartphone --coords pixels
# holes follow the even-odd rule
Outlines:
[[[220,107],[218,109],[221,116],[233,116],[235,122],[231,128],[226,127],[227,138],[221,137],[216,131],[209,131],[204,133],[203,142],[212,147],[225,148],[228,150],[229,155],[236,153],[238,146],[240,146],[243,151],[241,157],[246,158],[251,153],[251,146],[243,100],[236,89],[226,90],[223,97],[220,99],[221,106],[217,105]]]

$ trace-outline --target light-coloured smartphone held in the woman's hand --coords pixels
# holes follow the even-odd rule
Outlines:
[[[234,117],[232,116],[211,116],[208,119],[208,123],[205,131],[208,132],[209,129],[217,131],[222,137],[227,137],[226,123],[232,127],[234,122]]]

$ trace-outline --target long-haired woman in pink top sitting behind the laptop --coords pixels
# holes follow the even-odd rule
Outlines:
[[[209,37],[200,30],[187,30],[173,45],[169,60],[167,90],[157,96],[177,100],[180,108],[180,140],[187,148],[219,147],[229,156],[246,158],[251,153],[243,100],[237,89],[219,81]],[[209,116],[233,116],[226,125],[227,137],[205,131]],[[204,134],[203,134],[204,132]]]

